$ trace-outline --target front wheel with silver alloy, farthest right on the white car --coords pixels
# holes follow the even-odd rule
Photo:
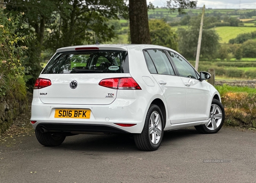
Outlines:
[[[218,100],[213,99],[207,124],[195,126],[195,129],[202,134],[215,134],[221,129],[224,120],[225,111],[223,105]]]

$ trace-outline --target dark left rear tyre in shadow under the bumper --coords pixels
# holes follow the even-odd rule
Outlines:
[[[35,130],[35,136],[38,142],[44,146],[58,146],[65,140],[66,135],[61,132],[44,132]]]

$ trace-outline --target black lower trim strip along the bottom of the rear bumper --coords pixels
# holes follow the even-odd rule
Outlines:
[[[40,123],[36,126],[36,130],[44,128],[47,131],[61,131],[61,132],[102,132],[112,134],[128,134],[119,128],[109,125],[88,125],[88,124],[72,124],[72,123]]]

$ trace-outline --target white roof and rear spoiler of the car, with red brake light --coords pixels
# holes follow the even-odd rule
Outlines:
[[[127,51],[128,49],[169,49],[164,46],[158,46],[153,44],[98,44],[98,45],[79,45],[79,46],[68,46],[64,48],[57,49],[56,52],[65,52],[65,51],[74,51],[74,50],[95,50],[95,49],[104,49],[104,50],[123,50]],[[174,51],[174,50],[172,50]]]

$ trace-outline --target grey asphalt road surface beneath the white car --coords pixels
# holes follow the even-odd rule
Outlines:
[[[0,183],[256,183],[252,130],[165,132],[151,152],[127,135],[76,135],[58,147],[42,146],[32,132],[19,136],[0,143]]]

